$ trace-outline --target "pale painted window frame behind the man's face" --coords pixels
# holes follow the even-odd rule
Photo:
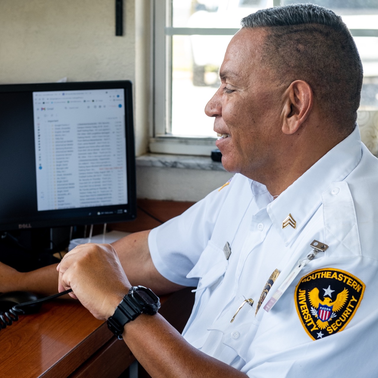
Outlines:
[[[172,104],[172,36],[234,35],[235,28],[181,28],[172,26],[171,0],[152,0],[153,30],[153,130],[149,140],[152,153],[210,156],[216,137],[174,136],[169,133]],[[273,0],[274,6],[280,0]],[[378,29],[350,29],[353,37],[378,37]]]

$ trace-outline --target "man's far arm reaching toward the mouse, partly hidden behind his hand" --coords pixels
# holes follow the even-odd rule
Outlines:
[[[151,287],[157,294],[182,288],[165,279],[153,265],[148,248],[149,231],[136,232],[112,243],[122,267],[135,285]],[[57,264],[20,273],[0,262],[0,292],[13,290],[32,291],[43,296],[57,293]]]

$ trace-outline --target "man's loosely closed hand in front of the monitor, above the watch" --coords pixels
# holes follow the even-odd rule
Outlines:
[[[112,316],[131,287],[114,248],[109,244],[82,244],[57,266],[59,292],[72,289],[97,319]]]

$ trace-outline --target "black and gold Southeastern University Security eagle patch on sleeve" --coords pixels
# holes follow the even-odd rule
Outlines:
[[[365,284],[339,269],[314,270],[302,277],[294,293],[301,323],[311,339],[342,331],[353,318]]]

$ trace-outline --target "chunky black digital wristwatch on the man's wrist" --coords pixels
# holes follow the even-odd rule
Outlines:
[[[134,320],[141,313],[154,315],[159,308],[159,297],[152,290],[144,286],[133,286],[123,297],[114,314],[108,318],[108,328],[122,340],[123,328],[127,322]]]

